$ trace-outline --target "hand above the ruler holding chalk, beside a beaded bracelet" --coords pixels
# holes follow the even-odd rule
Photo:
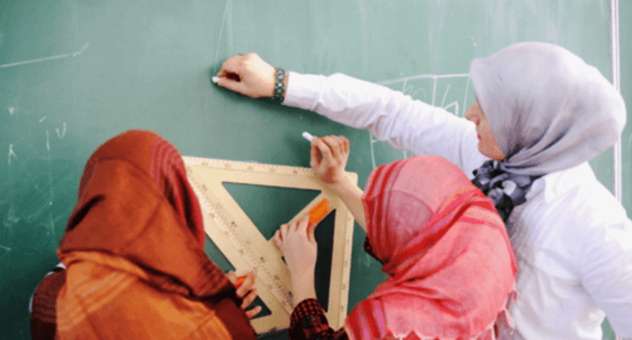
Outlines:
[[[274,68],[255,53],[232,56],[224,61],[213,82],[248,97],[272,97]]]

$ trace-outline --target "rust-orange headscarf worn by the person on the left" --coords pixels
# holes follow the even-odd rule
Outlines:
[[[147,318],[154,315],[156,320],[138,323],[159,328],[166,322],[175,322],[174,327],[182,327],[184,332],[191,325],[203,322],[200,320],[209,319],[215,310],[221,319],[217,330],[225,333],[225,326],[233,338],[253,339],[255,332],[250,320],[239,308],[241,299],[236,297],[234,286],[224,272],[205,254],[204,240],[200,206],[186,178],[178,150],[150,131],[131,130],[108,140],[92,154],[85,166],[78,202],[58,249],[59,258],[68,267],[66,286],[75,287],[66,288],[66,292],[60,294],[60,299],[64,300],[61,305],[58,300],[58,308],[65,306],[66,312],[72,310],[71,306],[79,299],[88,315],[72,319],[72,315],[58,313],[58,320],[65,318],[60,329],[65,327],[72,334],[73,325],[80,329],[83,319],[90,322],[106,320],[103,324],[108,324],[113,320],[111,318],[116,319],[112,311],[131,310],[127,315],[114,314],[121,315],[121,324],[134,322],[125,320],[129,315],[141,313]],[[73,290],[81,287],[79,281],[84,280],[73,274],[73,263],[88,263],[93,267],[96,264],[97,269],[114,268],[114,274],[131,276],[133,279],[130,280],[142,282],[143,286],[134,283],[137,286],[130,286],[133,289],[129,288],[129,292],[113,298],[114,293],[107,295],[107,290],[118,291],[122,289],[119,288],[121,285],[104,279],[99,286],[104,292],[102,296],[92,299],[95,301],[87,300],[80,295],[83,292]],[[99,280],[96,274],[90,274],[89,269],[84,272],[89,274],[85,280]],[[137,291],[147,292],[143,293],[147,295],[138,296],[134,293]],[[121,296],[131,298],[125,300]],[[141,300],[136,299],[155,302],[138,307]],[[198,310],[197,316],[193,313],[191,320],[178,322],[161,320],[164,315],[180,315],[177,313],[136,311],[138,308],[163,308],[159,305],[164,301],[167,301],[164,305],[178,301],[172,305],[179,306],[185,315]],[[92,324],[90,327],[98,326]],[[164,336],[169,335],[164,333]]]

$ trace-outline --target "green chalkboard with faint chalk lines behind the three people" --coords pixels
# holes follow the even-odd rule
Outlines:
[[[346,73],[462,116],[474,101],[471,59],[546,41],[611,78],[610,37],[605,0],[0,0],[1,337],[29,337],[28,299],[58,261],[83,165],[118,133],[154,130],[184,155],[305,167],[302,131],[345,135],[362,188],[374,166],[410,156],[368,131],[212,85],[229,56]],[[591,164],[612,188],[612,151]],[[356,226],[349,310],[384,279],[364,237]]]

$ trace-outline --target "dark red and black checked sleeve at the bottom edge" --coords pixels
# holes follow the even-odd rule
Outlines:
[[[329,327],[325,311],[315,299],[305,299],[294,308],[289,317],[289,340],[346,340],[344,329],[334,332]]]

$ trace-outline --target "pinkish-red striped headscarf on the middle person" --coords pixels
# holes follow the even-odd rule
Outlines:
[[[516,260],[494,203],[438,156],[375,169],[362,202],[386,281],[358,303],[350,339],[493,339]]]

